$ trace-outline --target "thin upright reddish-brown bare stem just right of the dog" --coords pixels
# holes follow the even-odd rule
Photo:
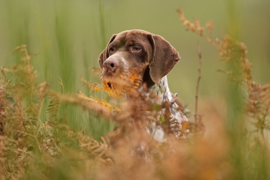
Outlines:
[[[197,53],[199,56],[199,68],[198,68],[198,79],[197,79],[197,85],[196,85],[196,95],[195,95],[195,129],[197,129],[198,124],[198,91],[199,91],[199,85],[201,80],[201,67],[202,67],[202,54],[199,47],[199,42],[197,41]]]

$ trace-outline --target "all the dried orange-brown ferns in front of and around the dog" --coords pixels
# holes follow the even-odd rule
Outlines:
[[[270,129],[267,120],[270,85],[253,82],[246,46],[229,36],[214,42],[212,21],[201,27],[198,19],[191,23],[181,9],[178,12],[187,30],[210,42],[224,61],[233,62],[233,69],[223,72],[229,74],[232,81],[247,85],[249,96],[245,113],[255,125],[254,132],[261,132],[264,137],[264,131]],[[209,37],[204,35],[205,29]],[[103,86],[81,77],[92,92],[109,94],[108,101],[85,95],[80,90],[77,95],[64,94],[64,91],[61,94],[50,89],[46,81],[38,84],[37,72],[30,63],[33,54],[27,51],[26,45],[18,46],[15,51],[20,63],[11,69],[1,68],[1,179],[269,179],[266,141],[265,144],[252,141],[249,137],[252,133],[241,132],[244,135],[240,138],[248,139],[248,145],[239,145],[239,156],[231,154],[234,147],[224,126],[224,99],[201,100],[200,109],[207,120],[204,135],[193,136],[191,131],[188,138],[177,139],[169,129],[170,102],[161,104],[156,92],[141,85],[140,70],[147,64],[131,69],[130,74],[119,74],[118,79],[104,79]],[[198,54],[201,62],[199,49]],[[97,69],[90,70],[97,76],[100,74]],[[6,79],[7,73],[12,74],[12,81]],[[199,81],[200,69],[197,84]],[[64,90],[64,84],[59,84]],[[49,99],[46,107],[51,115],[49,119],[40,119],[44,98]],[[62,103],[80,105],[93,112],[93,116],[118,122],[118,126],[96,141],[85,132],[75,132],[65,118],[59,117]],[[202,124],[198,113],[196,110],[195,118],[199,117]],[[164,143],[154,141],[146,132],[145,127],[156,119],[168,135]],[[183,137],[188,127],[183,124]],[[235,165],[234,159],[238,157],[239,164]]]

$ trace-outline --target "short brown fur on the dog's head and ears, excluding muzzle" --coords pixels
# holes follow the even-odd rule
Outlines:
[[[131,52],[130,47],[139,46],[141,52]],[[115,48],[114,52],[110,52],[110,48]],[[161,78],[166,76],[181,59],[178,52],[167,42],[163,37],[152,34],[143,30],[129,30],[115,34],[110,39],[107,47],[99,56],[99,65],[103,68],[103,62],[106,61],[112,54],[121,52],[127,64],[121,64],[119,70],[126,68],[139,67],[143,63],[149,63],[146,71],[142,72],[141,76],[148,85],[159,83]],[[147,79],[150,74],[151,79]]]

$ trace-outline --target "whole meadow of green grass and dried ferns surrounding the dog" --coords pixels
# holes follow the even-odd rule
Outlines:
[[[269,179],[269,8],[266,0],[0,1],[0,179]],[[113,115],[127,105],[97,85],[97,58],[130,29],[179,52],[167,78],[190,112],[189,138],[159,145]],[[121,124],[129,131],[114,134]],[[150,162],[130,155],[141,139]]]

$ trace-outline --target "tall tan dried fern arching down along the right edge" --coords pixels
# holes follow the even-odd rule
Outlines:
[[[196,18],[194,23],[188,21],[180,8],[178,13],[180,20],[183,22],[183,25],[187,26],[188,31],[200,35],[218,49],[222,61],[232,62],[233,68],[230,71],[219,71],[228,74],[231,81],[247,85],[247,115],[255,119],[253,124],[256,127],[256,131],[254,132],[261,131],[262,138],[265,139],[263,131],[269,129],[270,84],[261,86],[253,81],[251,75],[252,64],[247,58],[248,51],[246,45],[243,42],[235,41],[229,35],[225,35],[222,40],[216,38],[216,42],[214,42],[212,38],[214,23],[212,21],[207,22],[205,27],[201,27],[199,20]],[[206,28],[210,36],[204,34]]]

